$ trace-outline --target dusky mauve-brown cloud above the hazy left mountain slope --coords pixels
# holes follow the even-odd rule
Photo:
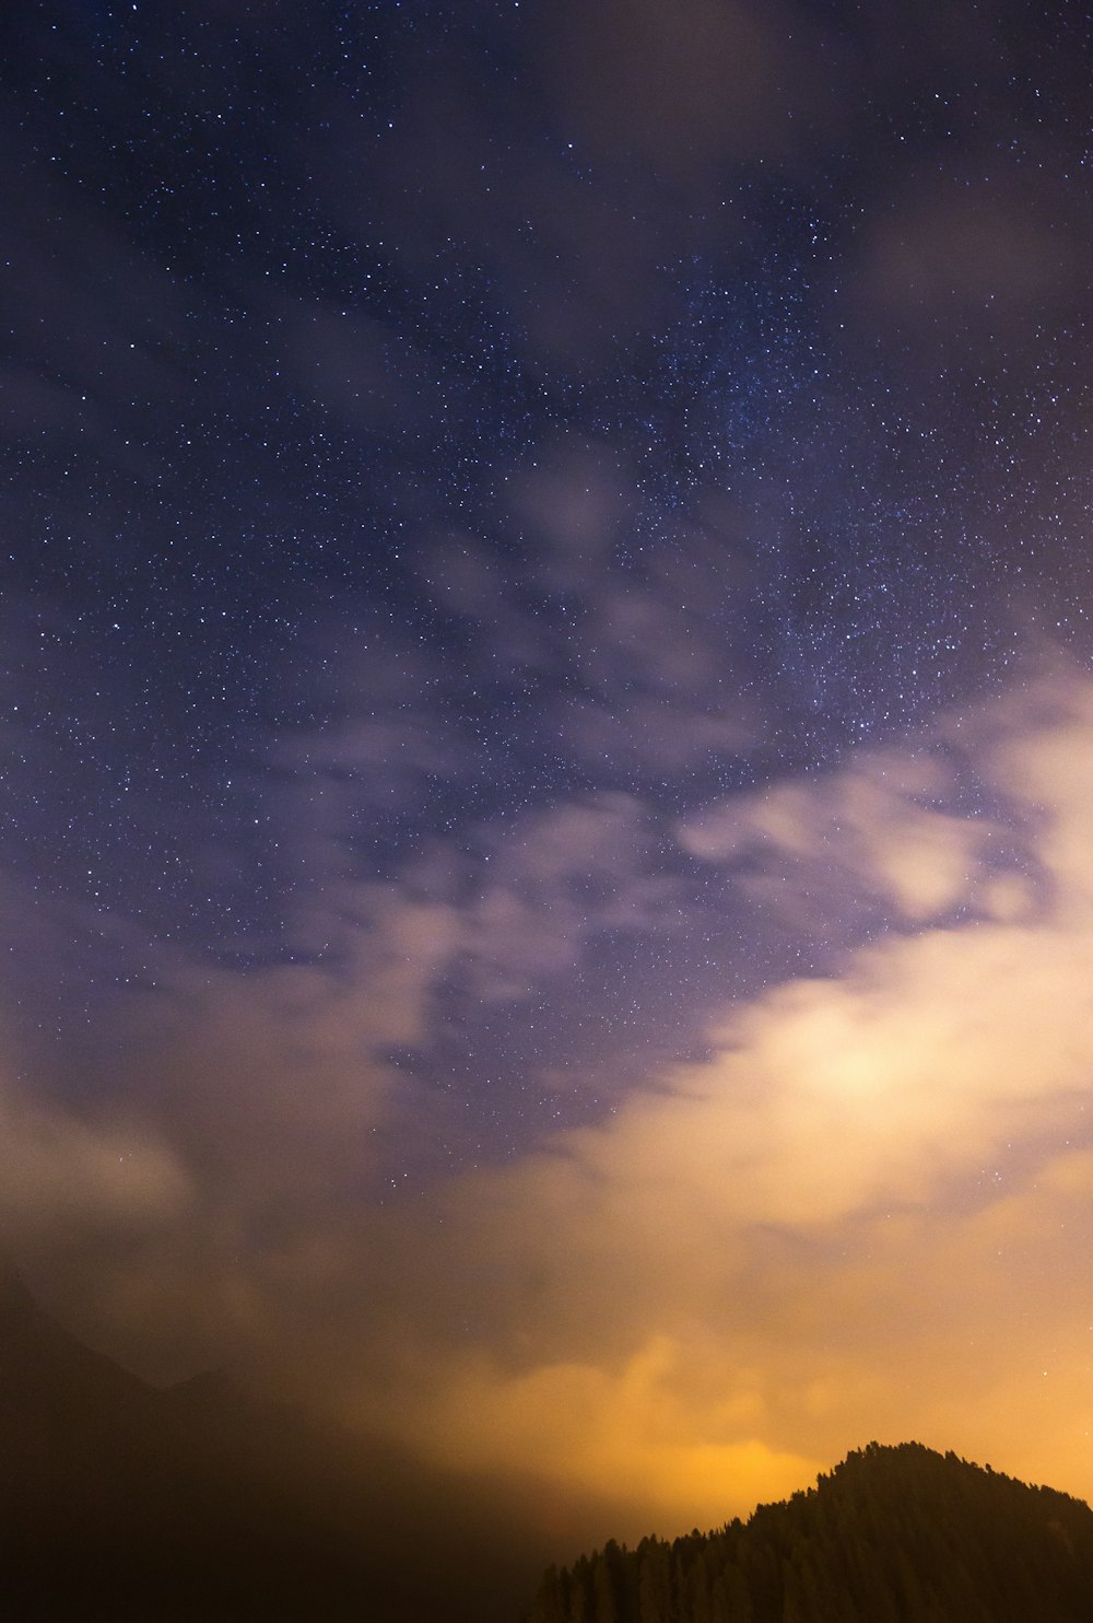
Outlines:
[[[96,997],[75,1053],[24,1044],[32,1086],[0,1086],[5,1243],[73,1328],[156,1380],[290,1347],[331,1272],[345,1294],[344,1235],[391,1186],[381,1134],[412,1087],[386,1055],[422,1040],[457,920],[345,883],[297,923],[321,954],[245,974],[130,927],[110,959],[139,946],[144,977]],[[60,904],[37,920],[44,964],[66,930]]]

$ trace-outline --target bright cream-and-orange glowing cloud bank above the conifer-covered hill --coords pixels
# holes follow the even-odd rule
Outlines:
[[[913,928],[735,1010],[709,1063],[407,1217],[368,1378],[334,1383],[354,1414],[464,1469],[616,1482],[628,1534],[717,1522],[872,1435],[1090,1492],[1093,708],[1070,683],[1030,708],[979,716],[971,753],[1014,816],[1038,810],[1065,894],[949,917],[952,886],[907,883],[885,833],[937,779],[908,761],[894,802],[863,800],[851,768],[881,831],[866,865],[895,872]],[[967,828],[932,815],[963,863]]]

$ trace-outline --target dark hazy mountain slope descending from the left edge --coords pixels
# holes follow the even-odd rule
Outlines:
[[[478,1623],[542,1560],[379,1441],[221,1375],[148,1386],[0,1258],[2,1623]]]

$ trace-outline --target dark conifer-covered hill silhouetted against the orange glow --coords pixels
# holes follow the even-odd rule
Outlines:
[[[748,1522],[550,1568],[532,1623],[1088,1623],[1093,1511],[921,1443]]]

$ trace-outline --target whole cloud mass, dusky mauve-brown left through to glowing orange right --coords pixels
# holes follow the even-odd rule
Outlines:
[[[219,1345],[436,1470],[615,1505],[618,1535],[717,1524],[869,1436],[1090,1493],[1091,789],[1070,672],[689,820],[704,862],[762,849],[772,885],[835,862],[890,928],[727,1003],[705,1061],[657,1063],[597,1125],[392,1204],[383,1045],[420,1039],[475,936],[350,888],[329,962],[178,967],[91,1134],[5,1094],[8,1209],[32,1177],[58,1224],[73,1188],[130,1211],[68,1284],[101,1344],[157,1368]],[[477,925],[491,987],[550,972],[529,941],[574,953],[589,883],[590,917],[619,906],[644,828],[626,797],[514,824],[491,857],[516,923]],[[139,1177],[107,1175],[136,1147]]]

